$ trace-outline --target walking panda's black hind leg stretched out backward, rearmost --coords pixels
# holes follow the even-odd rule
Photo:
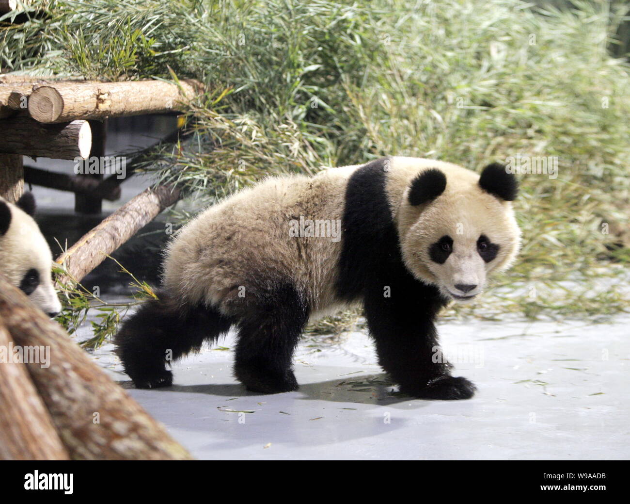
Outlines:
[[[229,331],[230,319],[205,306],[182,308],[159,292],[125,320],[114,338],[125,373],[139,389],[168,387],[173,373],[166,364],[198,351],[203,342]]]

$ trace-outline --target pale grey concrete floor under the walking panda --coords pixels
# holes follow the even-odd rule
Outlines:
[[[198,459],[627,459],[629,323],[442,324],[455,374],[478,386],[468,401],[392,395],[361,332],[305,339],[300,389],[273,396],[231,377],[231,334],[166,389],[131,388],[111,345],[95,359]]]

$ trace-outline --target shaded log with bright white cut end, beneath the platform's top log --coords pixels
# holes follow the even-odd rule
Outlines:
[[[2,122],[0,153],[31,157],[74,160],[86,159],[92,145],[92,132],[86,120],[62,124],[40,124],[30,117],[17,116]]]

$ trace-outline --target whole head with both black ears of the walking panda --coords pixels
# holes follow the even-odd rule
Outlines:
[[[401,207],[407,267],[457,302],[473,300],[492,271],[509,266],[520,246],[512,210],[518,182],[493,163],[481,177],[465,168],[427,168],[411,180]]]

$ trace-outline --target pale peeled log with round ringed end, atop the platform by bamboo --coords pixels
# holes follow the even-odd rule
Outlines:
[[[31,93],[28,113],[40,122],[66,122],[170,112],[202,90],[193,80],[180,86],[163,81],[51,84]]]

